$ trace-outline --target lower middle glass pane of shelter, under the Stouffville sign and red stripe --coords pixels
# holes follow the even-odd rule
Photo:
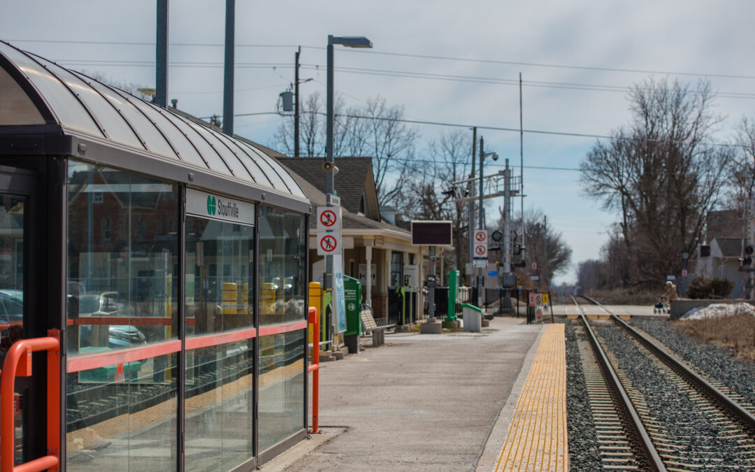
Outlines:
[[[230,470],[254,455],[254,340],[186,352],[186,470]]]

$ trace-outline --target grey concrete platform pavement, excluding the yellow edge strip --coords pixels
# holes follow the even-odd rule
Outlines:
[[[479,333],[389,334],[383,347],[328,362],[319,424],[342,432],[260,468],[490,470],[510,421],[504,404],[516,403],[543,328],[496,318]]]

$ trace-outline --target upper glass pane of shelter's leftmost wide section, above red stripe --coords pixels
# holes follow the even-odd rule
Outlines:
[[[177,338],[178,188],[69,161],[69,353]]]

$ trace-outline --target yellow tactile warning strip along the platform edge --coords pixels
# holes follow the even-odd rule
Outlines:
[[[569,470],[564,325],[546,325],[495,470]]]

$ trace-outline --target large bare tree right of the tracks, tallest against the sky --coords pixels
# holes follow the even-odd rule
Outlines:
[[[587,196],[621,212],[631,283],[655,285],[681,270],[720,198],[726,150],[707,142],[721,118],[710,83],[648,79],[629,94],[633,122],[581,162]]]

